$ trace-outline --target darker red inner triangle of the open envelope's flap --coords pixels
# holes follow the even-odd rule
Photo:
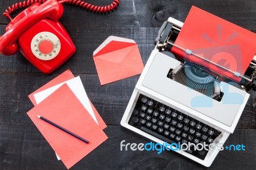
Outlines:
[[[118,42],[113,40],[109,42],[105,47],[103,47],[99,52],[97,52],[97,54],[95,54],[93,57],[97,57],[108,52],[113,52],[115,50],[124,49],[126,47],[131,47],[132,45],[136,45],[136,43]]]

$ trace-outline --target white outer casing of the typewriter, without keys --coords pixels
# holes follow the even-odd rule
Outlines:
[[[182,22],[171,17],[168,19],[168,22],[172,23],[173,26],[178,29],[181,29],[183,26]],[[167,77],[170,69],[175,70],[175,68],[179,67],[180,64],[179,60],[166,56],[166,54],[160,52],[157,47],[152,50],[150,58],[148,59],[147,64],[141,73],[140,79],[132,93],[131,100],[127,105],[121,125],[147,137],[152,141],[155,141],[156,143],[165,142],[153,135],[143,132],[139,128],[129,125],[128,123],[134,106],[136,105],[136,101],[138,100],[139,95],[142,94],[153,98],[164,105],[168,105],[177,111],[187,114],[191,118],[195,118],[206,125],[216,128],[221,132],[221,134],[213,141],[213,143],[224,144],[228,136],[234,132],[250,95],[243,89],[236,88],[226,82],[220,82],[220,89],[223,92],[223,98],[221,101],[232,100],[232,98],[229,98],[232,97],[232,95],[230,96],[227,94],[236,93],[243,97],[243,102],[240,104],[223,104],[221,101],[211,99],[212,107],[192,107],[191,100],[195,97],[202,96],[202,93],[179,84],[179,82],[172,81]],[[210,150],[204,160],[190,155],[186,151],[179,150],[177,152],[209,167],[219,150],[216,148],[214,150]]]

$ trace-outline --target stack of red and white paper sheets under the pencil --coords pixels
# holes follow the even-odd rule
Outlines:
[[[68,169],[108,139],[103,132],[106,124],[87,97],[80,77],[74,77],[70,70],[31,93],[29,98],[35,105],[28,112],[29,118]],[[89,143],[53,127],[37,115],[83,137]]]

